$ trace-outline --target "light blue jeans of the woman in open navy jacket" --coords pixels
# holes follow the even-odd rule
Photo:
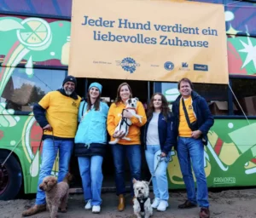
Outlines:
[[[149,146],[145,150],[145,156],[148,163],[148,169],[152,177],[154,198],[160,198],[160,200],[168,200],[168,181],[166,175],[166,169],[170,160],[171,152],[169,152],[166,158],[160,158],[161,148],[160,146]],[[156,166],[159,163],[157,169]],[[155,171],[155,172],[154,172]]]

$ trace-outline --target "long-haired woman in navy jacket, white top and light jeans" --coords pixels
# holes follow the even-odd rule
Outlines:
[[[165,211],[169,198],[166,169],[172,146],[177,143],[175,128],[177,122],[170,112],[166,97],[161,93],[155,93],[152,96],[147,116],[144,143],[148,169],[153,176],[154,202],[152,207]]]

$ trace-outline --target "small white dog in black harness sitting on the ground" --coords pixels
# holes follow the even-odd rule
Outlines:
[[[149,195],[149,183],[148,181],[137,181],[136,179],[132,180],[133,189],[135,194],[135,200],[133,204],[134,214],[137,215],[137,218],[142,216],[148,218],[153,215],[153,209],[150,203]]]

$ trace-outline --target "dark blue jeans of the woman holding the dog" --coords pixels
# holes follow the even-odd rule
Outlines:
[[[125,194],[125,156],[131,170],[131,196],[134,196],[132,179],[140,180],[142,151],[140,145],[112,145],[113,165],[115,169],[116,194]]]

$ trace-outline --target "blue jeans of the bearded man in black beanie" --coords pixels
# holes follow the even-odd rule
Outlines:
[[[73,152],[73,140],[55,140],[45,139],[43,152],[41,155],[42,163],[38,178],[38,186],[42,183],[45,176],[51,174],[55,158],[59,151],[59,173],[58,182],[63,181],[68,172],[70,156]],[[45,193],[38,187],[36,204],[46,204]]]

